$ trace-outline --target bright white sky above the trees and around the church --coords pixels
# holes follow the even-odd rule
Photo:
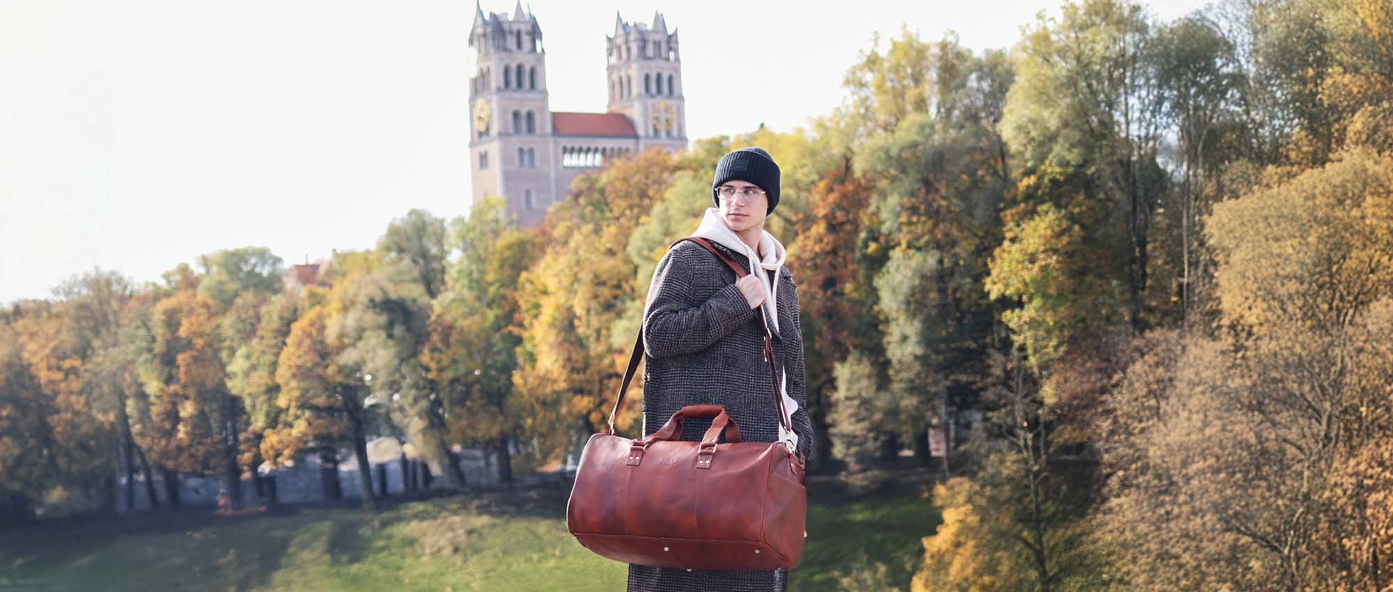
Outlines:
[[[1202,0],[1158,0],[1174,18]],[[690,138],[841,102],[875,32],[1007,47],[1053,0],[536,0],[550,106],[603,111],[614,13],[681,42]],[[508,13],[514,0],[489,0]],[[287,263],[464,213],[472,0],[0,0],[0,304],[92,267],[137,281],[223,248]],[[756,86],[758,92],[736,89]],[[776,155],[777,156],[777,155]]]

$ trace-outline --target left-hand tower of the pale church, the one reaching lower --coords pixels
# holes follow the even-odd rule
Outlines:
[[[508,212],[532,226],[557,195],[542,28],[521,1],[511,18],[475,4],[469,47],[474,202],[506,195]]]

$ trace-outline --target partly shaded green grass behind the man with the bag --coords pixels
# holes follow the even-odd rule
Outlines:
[[[908,591],[937,515],[922,488],[848,499],[809,493],[794,591],[836,591],[875,571]],[[301,507],[213,515],[163,511],[0,531],[0,591],[606,591],[625,566],[566,531],[564,490],[440,497],[380,513]],[[859,579],[859,581],[864,581]]]

